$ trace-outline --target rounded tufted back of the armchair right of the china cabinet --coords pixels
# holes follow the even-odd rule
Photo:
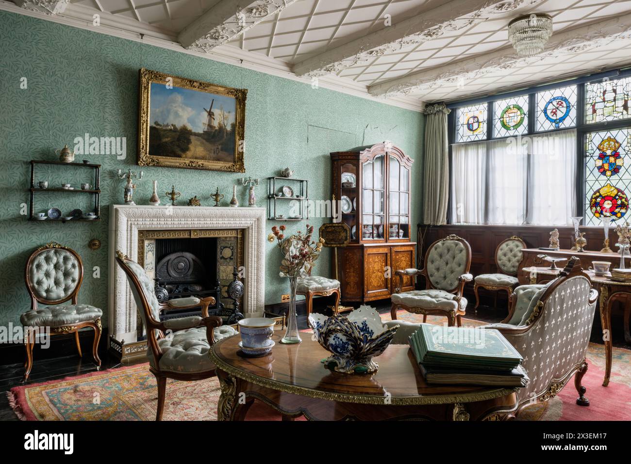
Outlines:
[[[471,247],[466,240],[456,236],[432,243],[425,257],[430,283],[434,288],[448,292],[457,288],[458,277],[467,274],[470,266]]]

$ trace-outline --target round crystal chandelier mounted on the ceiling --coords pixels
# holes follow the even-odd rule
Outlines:
[[[552,18],[538,13],[515,18],[509,23],[509,40],[517,55],[533,56],[543,52],[552,35]]]

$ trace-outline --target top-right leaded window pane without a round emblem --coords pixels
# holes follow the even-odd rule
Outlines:
[[[603,79],[585,84],[585,122],[626,119],[631,98],[631,78]]]

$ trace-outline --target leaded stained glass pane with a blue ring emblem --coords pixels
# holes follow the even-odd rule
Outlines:
[[[552,131],[576,125],[576,86],[544,90],[536,95],[537,131]]]

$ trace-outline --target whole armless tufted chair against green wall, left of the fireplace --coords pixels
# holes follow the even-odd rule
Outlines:
[[[78,304],[77,295],[83,281],[81,257],[59,243],[47,243],[28,257],[25,281],[31,297],[31,309],[20,316],[20,322],[25,328],[24,346],[27,351],[24,381],[28,380],[33,367],[35,332],[46,327],[50,328],[50,335],[74,332],[79,356],[79,330],[84,327],[93,328],[92,356],[97,363],[97,370],[100,369],[101,360],[97,349],[101,339],[103,311],[90,304]],[[66,301],[71,304],[62,304]],[[40,303],[47,306],[40,308]]]

